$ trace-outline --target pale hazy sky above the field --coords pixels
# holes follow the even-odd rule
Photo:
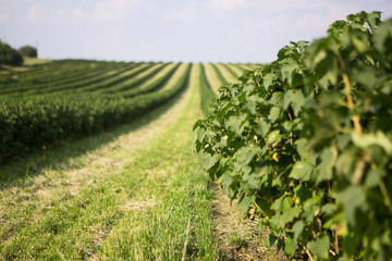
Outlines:
[[[0,0],[0,39],[49,59],[265,63],[391,0]]]

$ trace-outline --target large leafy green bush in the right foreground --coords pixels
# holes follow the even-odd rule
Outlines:
[[[392,256],[392,20],[360,12],[223,86],[204,167],[292,258]]]

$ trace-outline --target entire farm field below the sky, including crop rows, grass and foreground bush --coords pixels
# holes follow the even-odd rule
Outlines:
[[[391,260],[380,15],[268,64],[2,66],[0,259]]]

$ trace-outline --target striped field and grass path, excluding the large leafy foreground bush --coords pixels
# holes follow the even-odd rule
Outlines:
[[[201,96],[232,72],[70,60],[1,75],[16,140],[1,150],[0,259],[274,260],[194,149]]]

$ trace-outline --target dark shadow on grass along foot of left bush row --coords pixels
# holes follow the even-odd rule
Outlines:
[[[163,105],[140,115],[127,124],[113,126],[107,132],[89,137],[75,139],[70,142],[61,142],[48,150],[33,150],[28,153],[11,158],[8,162],[0,164],[0,190],[14,186],[32,186],[34,185],[32,177],[41,175],[45,170],[63,169],[64,165],[66,167],[75,166],[77,161],[71,160],[77,159],[89,151],[97,150],[119,136],[135,132],[160,117],[183,97],[187,88],[188,83],[186,82],[185,87]]]

